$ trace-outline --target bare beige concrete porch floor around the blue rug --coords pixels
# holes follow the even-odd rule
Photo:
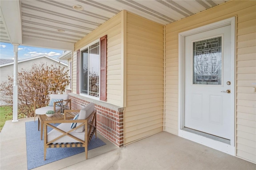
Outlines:
[[[6,121],[0,133],[0,169],[25,170],[25,122],[33,118]],[[98,135],[107,145],[40,166],[36,169],[243,169],[256,170],[256,164],[188,141],[167,132],[118,148]]]

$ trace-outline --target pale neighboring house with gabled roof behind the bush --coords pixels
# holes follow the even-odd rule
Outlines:
[[[13,60],[8,59],[0,59],[1,65],[0,65],[0,83],[8,81],[8,76],[13,76]],[[45,64],[47,66],[56,65],[65,67],[65,71],[68,70],[68,64],[63,63],[61,61],[58,61],[56,59],[53,59],[52,57],[48,57],[47,55],[41,55],[38,57],[32,57],[29,59],[19,60],[18,61],[18,72],[23,70],[30,70],[33,66],[33,64]],[[2,101],[0,104],[4,104]]]

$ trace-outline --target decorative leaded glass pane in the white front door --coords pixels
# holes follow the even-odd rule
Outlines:
[[[220,85],[222,80],[222,37],[193,43],[193,84]]]

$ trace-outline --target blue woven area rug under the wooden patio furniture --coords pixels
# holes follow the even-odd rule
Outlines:
[[[57,126],[57,124],[55,125]],[[52,128],[48,127],[48,132]],[[26,145],[28,170],[84,152],[84,148],[48,148],[44,160],[44,139],[40,140],[38,121],[26,122]],[[106,145],[99,138],[92,137],[88,150]]]

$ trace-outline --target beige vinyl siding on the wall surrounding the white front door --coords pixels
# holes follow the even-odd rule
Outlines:
[[[236,155],[256,162],[256,1],[230,1],[166,25],[165,130],[178,135],[178,33],[237,16]]]

